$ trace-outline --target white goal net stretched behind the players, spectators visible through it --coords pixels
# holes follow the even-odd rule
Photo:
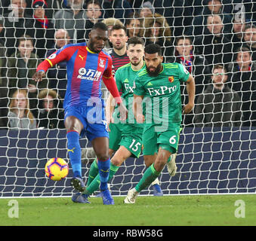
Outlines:
[[[158,43],[165,62],[181,63],[195,78],[195,108],[183,116],[177,173],[171,177],[165,166],[159,175],[163,193],[255,193],[254,3],[151,0],[142,6],[141,1],[128,0],[88,2],[0,3],[0,197],[72,195],[63,125],[66,62],[49,69],[40,84],[32,75],[45,57],[63,45],[87,41],[91,27],[101,20],[108,28],[113,23],[124,24],[129,38],[138,35],[146,44]],[[106,51],[112,50],[108,42]],[[185,84],[180,91],[186,105]],[[106,100],[109,92],[104,86],[102,93]],[[94,152],[85,137],[80,144],[86,181]],[[69,175],[59,182],[45,176],[45,163],[53,157],[69,163]],[[128,158],[109,182],[112,194],[126,195],[146,169],[142,154]],[[141,194],[153,194],[153,188]]]

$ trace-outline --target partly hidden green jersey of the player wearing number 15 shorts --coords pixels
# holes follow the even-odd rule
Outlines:
[[[136,123],[136,120],[134,118],[134,114],[132,111],[132,103],[134,99],[134,87],[135,87],[134,80],[135,78],[137,78],[138,72],[140,72],[140,70],[136,71],[132,69],[131,63],[128,63],[125,66],[119,67],[119,69],[117,69],[115,78],[116,78],[116,86],[125,103],[126,108],[128,109],[128,118],[125,121],[125,123],[136,124],[137,127],[142,128],[142,124]],[[114,111],[113,117],[118,117],[118,115],[119,115],[119,110],[118,108],[116,108]]]

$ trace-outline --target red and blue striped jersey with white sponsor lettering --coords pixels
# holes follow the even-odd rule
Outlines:
[[[54,66],[66,60],[67,87],[63,107],[87,105],[88,99],[101,99],[102,78],[112,77],[112,58],[105,51],[94,53],[86,43],[67,44],[45,59]]]

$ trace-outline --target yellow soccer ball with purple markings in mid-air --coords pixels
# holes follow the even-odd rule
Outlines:
[[[45,165],[45,174],[54,181],[60,181],[69,173],[69,165],[62,158],[51,158]]]

